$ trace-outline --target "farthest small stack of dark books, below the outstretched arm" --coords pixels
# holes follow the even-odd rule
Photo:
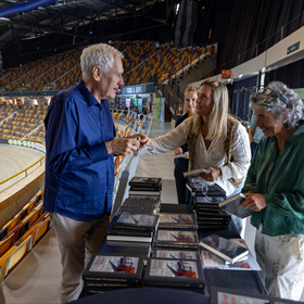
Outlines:
[[[162,178],[160,177],[134,177],[129,181],[129,198],[161,198]]]

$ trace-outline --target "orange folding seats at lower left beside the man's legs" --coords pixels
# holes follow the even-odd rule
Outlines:
[[[2,282],[50,228],[48,213],[42,213],[45,189],[0,230],[0,268]]]

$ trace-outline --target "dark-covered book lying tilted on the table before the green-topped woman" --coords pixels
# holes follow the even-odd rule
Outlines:
[[[216,235],[201,239],[200,246],[207,249],[230,263],[238,262],[249,254],[249,249],[244,240],[242,240],[242,244],[240,244]]]

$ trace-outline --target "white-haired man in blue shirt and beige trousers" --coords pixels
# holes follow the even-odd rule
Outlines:
[[[143,135],[114,139],[106,98],[114,99],[123,80],[123,54],[107,45],[84,49],[83,79],[53,97],[46,125],[46,190],[61,251],[61,301],[76,300],[81,275],[106,236],[114,187],[114,154],[145,147]]]

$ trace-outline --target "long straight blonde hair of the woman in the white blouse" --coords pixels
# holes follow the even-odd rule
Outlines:
[[[217,79],[204,79],[200,88],[205,85],[212,89],[212,100],[214,102],[208,118],[208,134],[206,140],[225,140],[227,137],[227,116],[228,116],[228,90],[227,87]],[[193,117],[192,132],[199,135],[203,118],[195,114]]]

